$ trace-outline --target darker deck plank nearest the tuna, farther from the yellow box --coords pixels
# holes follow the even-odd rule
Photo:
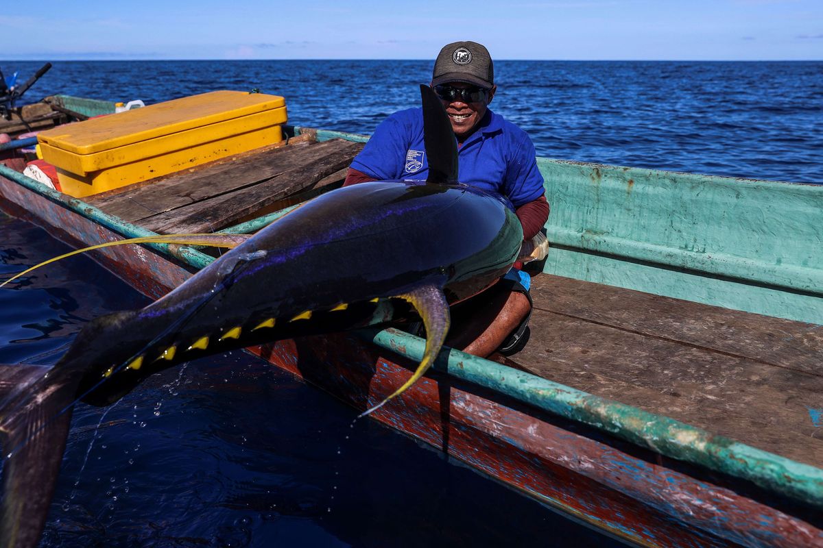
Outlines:
[[[313,188],[324,177],[345,168],[362,149],[361,144],[329,140],[301,150],[288,150],[290,168],[267,177],[263,182],[240,190],[199,200],[192,205],[152,215],[140,224],[157,233],[213,232],[264,210],[277,200]],[[311,154],[308,154],[311,153]],[[317,154],[319,153],[319,154]],[[239,166],[245,170],[245,163]],[[233,176],[233,171],[226,174]]]

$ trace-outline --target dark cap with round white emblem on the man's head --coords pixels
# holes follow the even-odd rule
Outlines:
[[[477,42],[454,42],[444,46],[435,60],[431,85],[466,82],[489,89],[495,84],[495,68],[489,50]]]

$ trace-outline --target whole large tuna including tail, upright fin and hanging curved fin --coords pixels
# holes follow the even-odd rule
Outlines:
[[[146,376],[206,354],[415,312],[425,355],[387,401],[425,372],[449,329],[449,304],[500,279],[523,230],[500,197],[456,183],[449,121],[431,90],[421,95],[429,182],[319,196],[142,310],[92,320],[52,368],[0,365],[0,546],[37,545],[78,400],[113,403]]]

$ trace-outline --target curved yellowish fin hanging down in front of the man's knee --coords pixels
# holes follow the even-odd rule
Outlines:
[[[440,288],[433,285],[423,286],[417,288],[412,292],[397,295],[398,298],[405,299],[412,303],[423,319],[425,325],[425,350],[423,351],[423,359],[420,365],[417,366],[414,375],[406,381],[400,388],[394,391],[382,402],[375,405],[373,408],[367,409],[360,414],[360,417],[365,417],[370,412],[374,412],[382,408],[388,400],[396,398],[406,391],[406,389],[416,383],[418,379],[423,376],[426,370],[435,362],[435,358],[443,348],[443,343],[446,340],[446,334],[449,333],[449,303],[446,302],[446,297]]]

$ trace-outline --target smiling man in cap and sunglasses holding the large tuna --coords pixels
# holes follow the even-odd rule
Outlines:
[[[523,225],[527,243],[549,215],[543,177],[528,135],[488,105],[494,98],[494,67],[488,50],[476,42],[455,42],[440,50],[431,87],[443,101],[458,140],[459,179],[506,197]],[[393,179],[425,180],[421,108],[389,116],[351,163],[344,186]],[[481,295],[452,308],[446,343],[477,356],[495,350],[516,352],[532,311],[528,274],[513,269]]]

